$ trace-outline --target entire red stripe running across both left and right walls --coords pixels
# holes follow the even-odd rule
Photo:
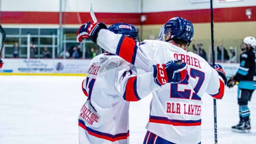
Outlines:
[[[214,22],[256,21],[256,14],[251,19],[245,15],[246,9],[256,12],[256,6],[213,9]],[[190,20],[192,23],[210,23],[210,9],[173,12],[148,12],[143,25],[164,24],[175,16]],[[140,13],[95,13],[99,22],[114,24],[117,22],[140,25]],[[63,24],[83,24],[91,21],[89,12],[63,12]],[[59,24],[59,12],[1,12],[4,24]]]

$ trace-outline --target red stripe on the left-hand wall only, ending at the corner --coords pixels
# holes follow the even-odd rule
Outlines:
[[[140,24],[140,13],[95,13],[99,22]],[[63,24],[93,22],[89,12],[63,12]],[[1,12],[1,23],[8,24],[59,24],[59,12]]]

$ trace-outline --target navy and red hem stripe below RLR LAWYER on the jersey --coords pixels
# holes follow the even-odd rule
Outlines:
[[[174,120],[174,119],[168,119],[167,117],[149,116],[149,123],[171,124],[173,126],[198,126],[198,125],[201,125],[201,119]]]

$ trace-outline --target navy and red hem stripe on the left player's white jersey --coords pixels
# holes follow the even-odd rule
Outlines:
[[[112,142],[114,142],[116,140],[125,140],[129,137],[129,130],[125,133],[118,133],[118,134],[112,135],[109,133],[99,132],[99,131],[93,130],[89,127],[86,127],[84,121],[82,121],[80,119],[78,119],[78,125],[80,127],[82,127],[85,131],[87,131],[90,135],[95,136],[100,139],[109,140]]]

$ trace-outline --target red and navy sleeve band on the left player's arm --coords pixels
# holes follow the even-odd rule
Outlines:
[[[128,79],[123,98],[126,101],[138,101],[141,99],[137,93],[137,76]]]

